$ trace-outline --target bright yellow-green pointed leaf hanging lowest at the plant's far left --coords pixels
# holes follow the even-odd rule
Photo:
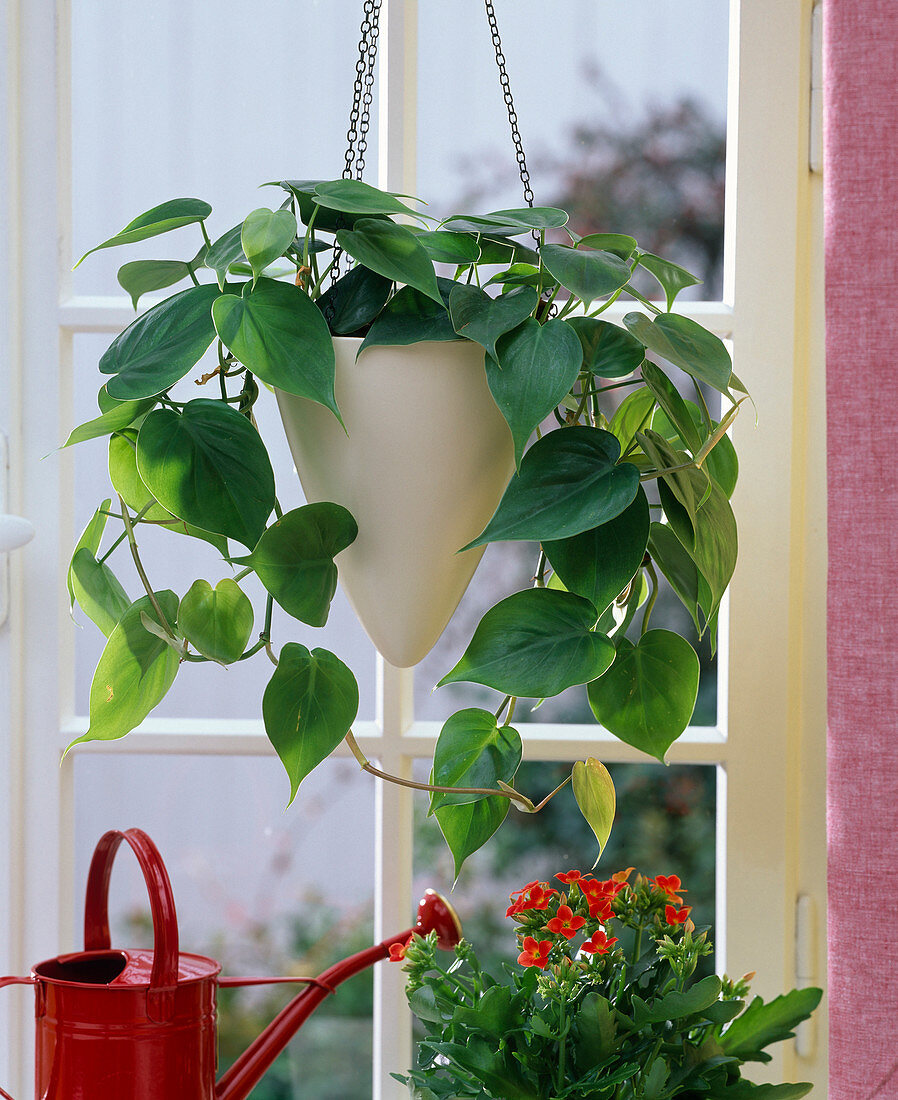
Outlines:
[[[177,619],[177,596],[165,591],[157,592],[155,598],[168,625],[173,626]],[[178,654],[145,629],[141,615],[161,626],[149,596],[142,596],[122,615],[94,673],[90,726],[73,745],[124,737],[143,722],[174,683]]]

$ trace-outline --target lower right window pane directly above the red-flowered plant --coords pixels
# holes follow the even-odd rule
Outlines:
[[[714,925],[716,768],[653,763],[609,765],[617,791],[617,815],[595,873],[635,867],[648,875],[678,875],[697,926]],[[516,787],[533,795],[570,774],[569,763],[525,762]],[[427,781],[428,766],[415,778]],[[416,799],[415,891],[452,887],[452,858],[427,802]],[[584,873],[595,859],[595,838],[568,791],[538,814],[511,810],[486,845],[467,860],[451,894],[466,938],[489,968],[513,960],[514,928],[505,919],[508,894],[533,880],[552,880],[572,868]],[[705,960],[707,961],[707,960]],[[713,966],[709,964],[709,972]]]

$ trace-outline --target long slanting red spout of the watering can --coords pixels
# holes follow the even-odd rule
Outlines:
[[[414,927],[336,963],[298,993],[222,1075],[216,1086],[216,1100],[244,1100],[299,1027],[341,981],[385,959],[393,944],[405,943],[413,933],[424,936],[428,932],[436,932],[437,944],[445,950],[461,939],[461,924],[455,910],[432,890],[420,900]]]

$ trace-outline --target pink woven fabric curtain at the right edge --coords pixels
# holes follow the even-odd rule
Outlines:
[[[824,0],[830,1100],[898,1098],[898,0]]]

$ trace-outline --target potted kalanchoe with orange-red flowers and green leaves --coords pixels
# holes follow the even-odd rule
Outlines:
[[[496,979],[462,941],[445,969],[432,937],[391,948],[426,1037],[407,1077],[415,1100],[796,1100],[808,1084],[753,1085],[746,1063],[789,1038],[820,1001],[792,990],[747,1004],[753,975],[696,979],[712,953],[676,875],[634,868],[560,887],[528,882],[506,915],[517,965]]]

